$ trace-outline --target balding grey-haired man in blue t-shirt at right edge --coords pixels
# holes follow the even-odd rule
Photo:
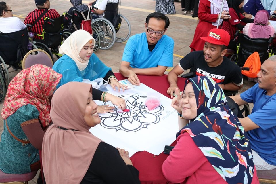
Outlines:
[[[251,143],[257,170],[276,168],[276,56],[271,56],[261,66],[258,84],[240,95],[231,96],[238,104],[253,102],[252,113],[239,118]]]

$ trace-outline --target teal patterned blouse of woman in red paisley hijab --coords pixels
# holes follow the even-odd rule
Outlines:
[[[28,141],[20,125],[25,121],[37,119],[38,116],[37,108],[27,104],[10,115],[7,124],[14,136]],[[4,120],[4,131],[0,142],[0,169],[9,174],[28,173],[31,172],[30,165],[37,161],[39,161],[39,151],[31,143],[24,144],[14,139],[7,130]]]

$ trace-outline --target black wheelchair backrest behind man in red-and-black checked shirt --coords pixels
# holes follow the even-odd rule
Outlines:
[[[43,24],[43,43],[47,47],[57,47],[62,41],[63,15],[50,19],[46,17]]]

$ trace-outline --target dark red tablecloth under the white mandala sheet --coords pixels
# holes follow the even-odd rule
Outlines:
[[[118,80],[127,79],[120,73],[115,73]],[[167,94],[167,89],[170,87],[167,75],[163,76],[148,76],[148,75],[137,75],[140,82],[149,86],[150,88],[160,92],[161,94],[170,98]],[[184,88],[185,79],[178,78],[177,86],[182,91]],[[175,122],[177,123],[177,122]],[[177,133],[177,132],[175,132]],[[176,141],[171,145],[175,146]],[[165,145],[164,145],[165,147]],[[147,151],[141,151],[135,153],[130,159],[133,166],[139,170],[139,179],[142,184],[169,184],[170,182],[162,174],[162,164],[168,155],[161,153],[155,156]]]

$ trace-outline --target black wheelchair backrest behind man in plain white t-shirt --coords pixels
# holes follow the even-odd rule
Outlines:
[[[0,56],[7,65],[18,68],[18,64],[28,52],[28,39],[27,28],[12,33],[0,32]]]

